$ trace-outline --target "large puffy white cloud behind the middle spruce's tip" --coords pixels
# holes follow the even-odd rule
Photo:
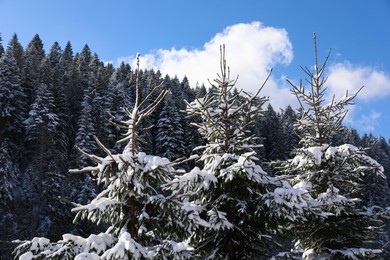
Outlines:
[[[290,64],[293,59],[292,44],[286,30],[266,27],[260,22],[240,23],[229,26],[216,34],[200,49],[159,49],[141,55],[142,68],[159,69],[163,74],[187,76],[191,86],[196,83],[209,86],[219,73],[220,45],[226,45],[226,59],[231,76],[239,75],[238,89],[256,92],[268,71],[277,64]],[[132,63],[134,57],[122,58]],[[284,108],[295,103],[289,86],[280,85],[280,80],[271,76],[262,95],[269,96],[275,108]]]

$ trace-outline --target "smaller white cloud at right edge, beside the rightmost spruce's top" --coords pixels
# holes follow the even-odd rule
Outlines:
[[[345,91],[355,94],[361,86],[358,99],[371,101],[390,95],[390,75],[372,67],[356,66],[349,62],[331,65],[327,86],[329,92],[342,97]]]

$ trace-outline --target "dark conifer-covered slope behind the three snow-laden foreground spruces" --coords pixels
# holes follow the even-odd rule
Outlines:
[[[139,80],[143,98],[160,83],[168,91],[140,127],[142,150],[171,161],[189,157],[205,141],[190,124],[200,118],[187,117],[185,100],[192,102],[215,90],[193,87],[186,78],[154,70],[140,71]],[[88,203],[101,189],[91,175],[68,173],[89,165],[74,146],[102,155],[95,135],[106,147],[123,149],[116,143],[123,133],[119,121],[126,120],[122,108],[131,110],[135,105],[135,87],[135,70],[129,64],[117,68],[104,64],[88,45],[74,53],[70,42],[64,49],[55,42],[46,53],[38,35],[25,48],[16,34],[5,48],[0,38],[0,240],[36,236],[58,240],[63,233],[88,235],[101,228],[72,222],[70,202]],[[275,111],[268,105],[252,126],[263,144],[255,148],[257,157],[268,172],[273,171],[269,162],[287,160],[301,147],[294,127],[300,113],[290,106]],[[384,137],[359,136],[355,129],[342,127],[331,143],[367,148],[367,154],[390,175],[390,146]],[[183,167],[191,169],[194,163]],[[382,187],[367,189],[369,197],[375,205],[388,205],[388,182],[378,186],[375,179],[368,179],[366,185]],[[12,247],[2,242],[1,254],[8,255]]]

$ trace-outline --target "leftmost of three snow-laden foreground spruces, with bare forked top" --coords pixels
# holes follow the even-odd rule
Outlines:
[[[78,205],[72,210],[77,213],[75,221],[87,219],[97,224],[105,223],[107,231],[88,238],[65,234],[55,243],[46,238],[34,238],[15,249],[16,257],[184,259],[190,256],[192,247],[180,237],[186,230],[191,230],[189,219],[199,218],[196,215],[198,211],[188,203],[165,195],[161,187],[171,180],[175,172],[171,162],[166,158],[146,155],[139,146],[142,130],[139,126],[166,95],[166,91],[161,91],[162,86],[153,88],[141,100],[138,76],[134,108],[126,110],[129,119],[122,122],[128,130],[120,140],[127,142],[122,153],[113,154],[95,138],[106,157],[79,149],[97,165],[71,170],[71,173],[90,172],[104,186],[89,204]],[[160,91],[157,98],[146,103],[157,91]]]

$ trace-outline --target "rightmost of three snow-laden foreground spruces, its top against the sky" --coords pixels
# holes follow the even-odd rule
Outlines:
[[[293,227],[292,234],[296,246],[304,250],[305,259],[376,258],[381,250],[370,242],[380,231],[382,223],[377,215],[383,211],[363,203],[362,191],[366,176],[385,178],[383,167],[356,146],[328,143],[342,128],[346,107],[357,93],[347,92],[340,100],[333,97],[325,103],[327,89],[323,74],[330,52],[320,67],[315,34],[314,49],[314,72],[303,68],[309,77],[306,80],[309,87],[302,81],[299,86],[289,81],[303,111],[297,122],[302,148],[293,150],[292,159],[275,165],[284,174],[281,178],[306,187],[322,213]]]

